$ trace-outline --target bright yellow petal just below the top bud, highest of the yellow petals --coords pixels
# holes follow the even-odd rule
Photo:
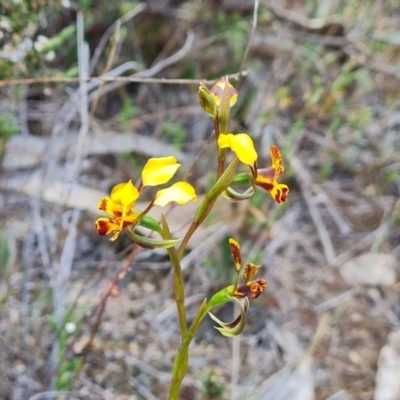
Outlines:
[[[221,149],[229,147],[243,164],[253,167],[257,161],[257,152],[254,148],[253,140],[247,133],[220,134],[218,146]]]

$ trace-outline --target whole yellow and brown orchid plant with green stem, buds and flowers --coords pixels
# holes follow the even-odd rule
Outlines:
[[[188,326],[185,310],[185,287],[180,262],[190,238],[213,209],[219,196],[230,201],[245,201],[254,196],[256,187],[261,187],[270,193],[276,203],[281,205],[289,193],[288,186],[278,182],[280,174],[284,171],[279,149],[271,146],[271,166],[259,169],[258,155],[251,137],[247,133],[234,134],[230,132],[230,110],[236,103],[238,93],[230,84],[228,77],[219,79],[210,90],[205,84],[200,83],[198,95],[201,107],[214,122],[218,150],[217,181],[206,193],[184,237],[182,239],[172,238],[166,218],[162,215],[159,222],[150,217],[148,213],[154,206],[165,207],[171,202],[185,204],[189,201],[196,201],[195,189],[189,183],[178,182],[166,189],[161,189],[145,210],[141,211],[135,208],[138,198],[146,187],[167,184],[174,177],[180,167],[175,157],[148,160],[143,168],[142,180],[138,187],[135,187],[132,181],[116,185],[112,189],[110,197],[103,197],[98,204],[99,210],[108,214],[108,217],[99,218],[95,223],[97,233],[100,236],[112,235],[111,241],[116,240],[122,231],[126,231],[132,241],[139,246],[147,249],[164,248],[169,254],[174,271],[174,296],[181,330],[181,344],[172,371],[170,400],[178,399],[188,367],[189,345],[203,319],[209,315],[216,322],[216,329],[224,336],[240,335],[245,327],[250,301],[262,294],[267,286],[267,281],[264,279],[252,280],[260,266],[252,263],[242,265],[240,245],[234,239],[229,239],[236,279],[232,285],[217,292],[210,300],[205,299],[192,324]],[[233,153],[233,158],[225,166],[227,150]],[[236,173],[240,163],[245,164],[249,171]],[[239,193],[233,188],[237,185],[248,185],[248,188]],[[159,237],[139,235],[135,231],[138,225],[150,229]],[[243,271],[241,284],[239,284],[240,271]],[[232,322],[225,323],[212,314],[211,310],[230,301],[238,304],[240,313]]]

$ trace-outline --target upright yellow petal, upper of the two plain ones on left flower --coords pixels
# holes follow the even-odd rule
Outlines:
[[[143,168],[143,186],[157,186],[167,183],[181,166],[175,157],[150,158]]]

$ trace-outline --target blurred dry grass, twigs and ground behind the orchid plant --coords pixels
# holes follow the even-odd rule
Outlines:
[[[229,236],[269,285],[233,346],[204,323],[182,399],[383,399],[379,352],[400,327],[399,65],[397,0],[2,0],[0,398],[165,397],[179,345],[167,258],[98,238],[96,204],[170,154],[195,161],[205,193],[213,126],[191,80],[244,71],[231,129],[261,167],[280,147],[291,192],[282,207],[221,201],[192,245],[189,317],[230,282]],[[87,84],[81,141],[83,68],[116,79]],[[172,213],[177,231],[193,211]]]

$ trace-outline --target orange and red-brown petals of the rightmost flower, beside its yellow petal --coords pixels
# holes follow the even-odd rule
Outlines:
[[[270,146],[269,150],[272,165],[269,168],[257,169],[254,184],[267,190],[278,204],[283,204],[289,194],[289,188],[278,183],[278,177],[284,171],[281,152],[276,146]]]

